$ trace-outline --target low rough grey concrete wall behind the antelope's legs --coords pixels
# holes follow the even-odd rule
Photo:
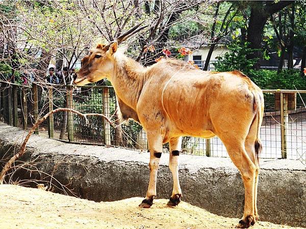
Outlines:
[[[24,137],[22,130],[0,123],[0,158],[12,155]],[[168,156],[161,157],[158,198],[169,198],[172,191]],[[76,195],[93,201],[145,196],[149,179],[148,153],[66,144],[36,135],[30,138],[22,160],[34,160],[38,170],[54,174]],[[242,216],[243,183],[230,159],[181,155],[180,160],[183,201],[218,215]],[[13,180],[29,176],[25,170],[19,170]],[[43,174],[31,176],[40,178]],[[258,208],[261,220],[306,226],[306,167],[293,160],[262,160]]]

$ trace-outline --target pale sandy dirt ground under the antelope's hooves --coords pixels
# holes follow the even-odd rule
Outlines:
[[[224,218],[185,202],[175,208],[156,199],[140,209],[141,197],[95,203],[41,189],[0,185],[0,228],[234,228]],[[258,222],[251,228],[293,228]]]

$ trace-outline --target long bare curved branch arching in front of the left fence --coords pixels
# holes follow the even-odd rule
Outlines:
[[[79,116],[81,116],[85,119],[86,124],[88,124],[88,120],[87,120],[88,116],[99,116],[99,117],[104,118],[107,122],[109,122],[113,127],[116,128],[116,126],[112,123],[112,121],[108,117],[106,117],[105,115],[99,114],[99,113],[85,113],[85,114],[83,114],[80,111],[77,111],[77,110],[74,110],[74,109],[71,109],[71,108],[57,108],[57,109],[51,110],[48,113],[46,113],[46,115],[44,115],[41,119],[39,119],[35,122],[35,124],[31,128],[31,130],[29,131],[28,135],[24,138],[24,140],[22,142],[22,145],[21,145],[21,148],[20,148],[20,151],[17,154],[15,154],[5,164],[5,166],[3,167],[2,171],[1,171],[1,174],[0,174],[0,184],[3,184],[5,175],[6,175],[7,171],[11,169],[12,164],[25,153],[25,148],[27,147],[27,142],[28,142],[29,138],[31,137],[31,135],[33,134],[33,132],[35,131],[35,129],[38,128],[38,126],[42,122],[44,122],[50,115],[52,115],[53,113],[59,112],[59,111],[70,111],[72,113],[76,113],[77,115],[79,115]]]

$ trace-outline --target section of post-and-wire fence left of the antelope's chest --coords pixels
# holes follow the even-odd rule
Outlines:
[[[112,87],[78,87],[48,83],[33,83],[33,87],[27,87],[8,82],[0,83],[0,116],[9,125],[29,130],[35,120],[48,111],[59,107],[73,108],[82,113],[103,113],[117,127],[114,128],[105,119],[95,116],[88,117],[89,124],[86,124],[85,119],[80,116],[60,111],[50,115],[39,125],[35,133],[69,142],[139,150],[148,148],[145,132],[138,123],[119,123],[116,97]],[[15,97],[18,98],[16,102]],[[14,112],[18,112],[18,115]]]

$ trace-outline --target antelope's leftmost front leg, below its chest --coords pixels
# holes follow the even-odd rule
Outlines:
[[[150,181],[145,199],[139,205],[141,208],[149,208],[153,204],[153,199],[156,198],[156,181],[157,171],[160,158],[163,152],[163,138],[161,134],[151,133],[147,131],[148,145],[150,148]]]

